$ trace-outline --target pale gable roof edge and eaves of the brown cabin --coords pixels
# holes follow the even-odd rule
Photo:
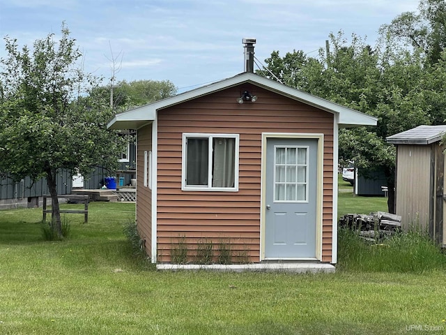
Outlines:
[[[339,126],[341,127],[376,126],[376,121],[378,120],[376,117],[371,117],[370,115],[358,112],[357,110],[352,110],[351,108],[338,105],[337,103],[332,103],[323,98],[312,96],[311,94],[299,91],[298,89],[293,89],[266,77],[245,72],[235,75],[234,77],[221,80],[220,82],[215,82],[213,84],[199,87],[198,89],[193,89],[192,91],[187,91],[170,98],[156,101],[155,103],[150,103],[126,112],[118,113],[111,121],[109,121],[107,128],[138,129],[155,120],[157,110],[162,110],[163,108],[171,107],[179,103],[184,103],[185,101],[190,101],[194,98],[199,98],[200,96],[206,96],[216,91],[222,91],[223,89],[228,89],[230,87],[235,87],[245,83],[254,84],[258,87],[262,87],[263,89],[273,91],[282,96],[287,96],[295,101],[312,105],[333,114],[339,114]]]

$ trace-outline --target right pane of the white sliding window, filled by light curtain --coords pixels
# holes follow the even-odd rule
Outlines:
[[[236,139],[213,139],[213,187],[234,187],[236,180]]]

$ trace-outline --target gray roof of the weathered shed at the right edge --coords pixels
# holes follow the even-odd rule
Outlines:
[[[441,140],[446,133],[446,125],[417,126],[389,137],[387,143],[391,144],[431,144]]]

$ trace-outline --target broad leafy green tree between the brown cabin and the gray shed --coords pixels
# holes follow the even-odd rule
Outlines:
[[[394,51],[391,47],[382,51],[355,35],[348,42],[342,32],[330,34],[330,52],[321,48],[318,59],[300,52],[298,57],[288,55],[284,59],[278,55],[273,52],[266,63],[268,68],[275,65],[272,72],[285,84],[295,87],[299,83],[297,88],[310,94],[378,118],[376,127],[339,131],[339,158],[355,161],[365,177],[367,172],[382,170],[389,189],[388,211],[393,212],[395,149],[385,138],[420,124],[432,124],[444,116],[440,106],[433,103],[434,99],[438,101],[438,94],[432,92],[438,92],[435,83],[440,84],[443,78],[440,66],[436,75],[429,76],[421,52]],[[286,61],[290,59],[298,62]],[[287,73],[297,77],[287,80]]]

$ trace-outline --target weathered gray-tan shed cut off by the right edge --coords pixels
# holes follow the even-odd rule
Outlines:
[[[419,223],[442,246],[446,245],[445,133],[446,125],[418,126],[387,137],[397,146],[396,213],[405,228]]]

